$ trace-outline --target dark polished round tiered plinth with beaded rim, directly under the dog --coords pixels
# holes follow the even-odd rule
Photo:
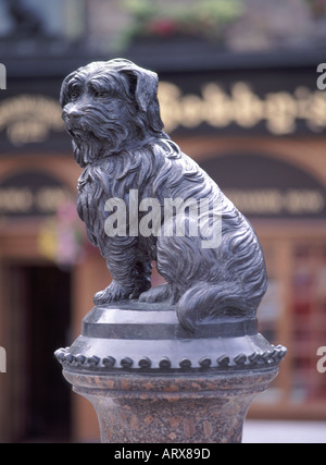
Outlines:
[[[173,306],[137,301],[93,307],[82,335],[55,352],[71,369],[103,372],[261,369],[277,366],[285,354],[258,333],[255,319],[203,322],[193,334],[179,326]]]

